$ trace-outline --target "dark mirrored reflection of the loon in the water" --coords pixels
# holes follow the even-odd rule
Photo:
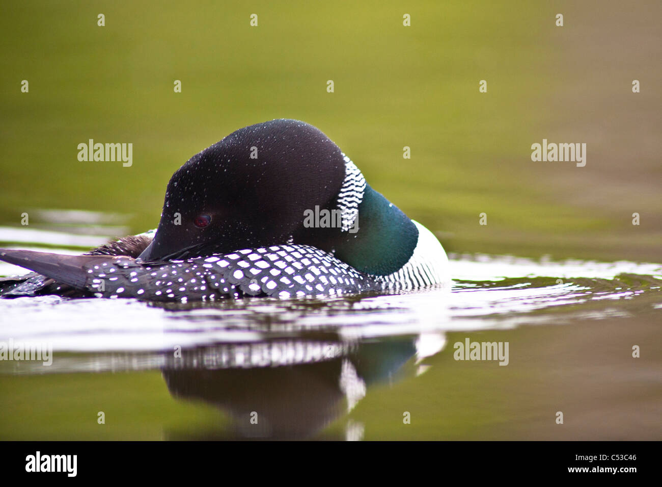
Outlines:
[[[371,385],[404,377],[399,371],[417,355],[417,345],[424,353],[439,351],[425,344],[425,338],[399,337],[198,347],[173,354],[162,371],[173,397],[202,400],[232,418],[229,431],[187,433],[187,439],[306,439],[348,413]],[[359,440],[363,426],[348,423],[345,435]]]

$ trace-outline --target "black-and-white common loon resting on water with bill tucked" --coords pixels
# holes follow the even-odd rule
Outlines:
[[[239,129],[181,166],[153,239],[125,237],[79,256],[0,249],[0,260],[40,274],[28,274],[28,294],[156,301],[449,280],[436,237],[372,189],[324,133],[289,119]],[[25,296],[15,284],[3,296]]]

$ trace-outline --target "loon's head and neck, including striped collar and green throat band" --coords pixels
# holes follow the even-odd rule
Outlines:
[[[324,133],[279,119],[239,129],[181,166],[140,258],[301,243],[385,275],[408,261],[417,238],[414,223]]]

